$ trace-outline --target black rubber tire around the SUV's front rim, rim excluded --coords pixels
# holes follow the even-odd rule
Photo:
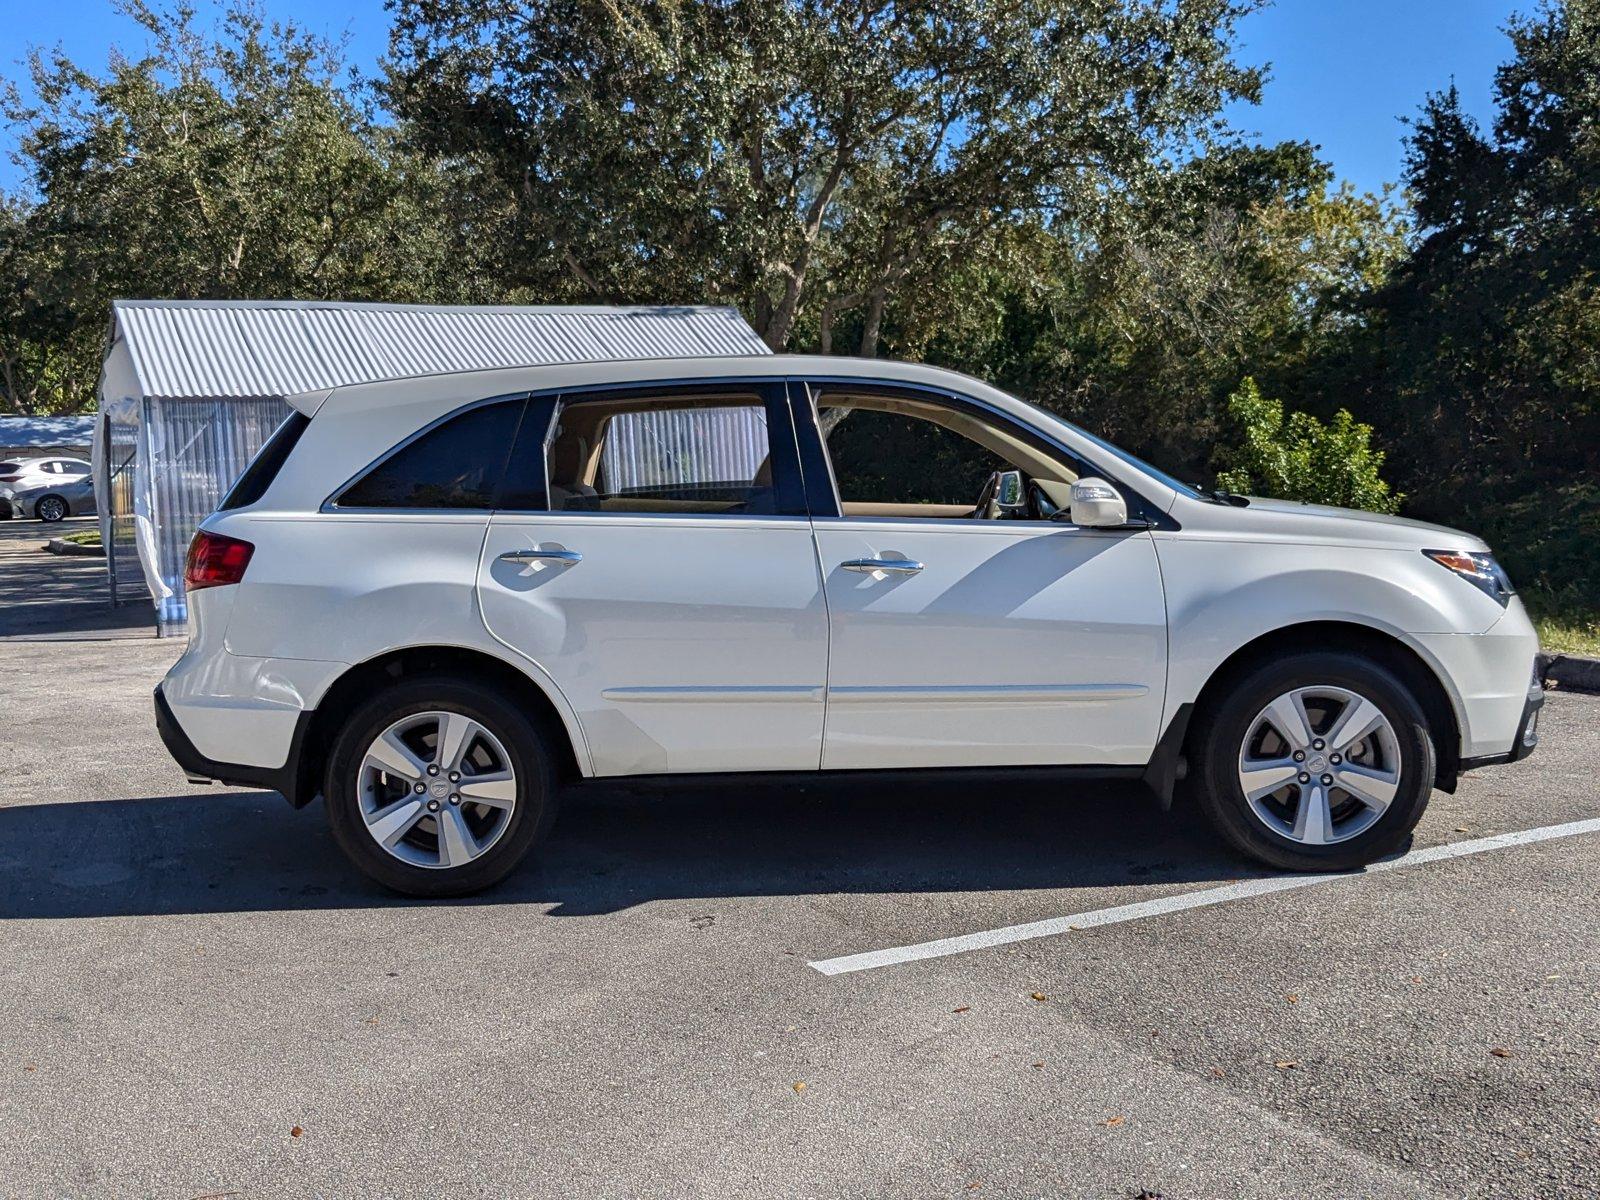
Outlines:
[[[1389,720],[1398,749],[1394,798],[1370,827],[1344,842],[1306,845],[1269,829],[1240,784],[1240,750],[1256,715],[1296,688],[1334,686],[1365,696]],[[1427,717],[1392,672],[1354,653],[1307,651],[1262,662],[1226,688],[1195,730],[1200,808],[1235,850],[1286,870],[1350,870],[1398,850],[1422,819],[1434,790],[1435,754]]]

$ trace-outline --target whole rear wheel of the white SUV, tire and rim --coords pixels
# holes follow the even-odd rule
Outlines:
[[[554,818],[552,747],[501,693],[405,680],[346,720],[323,794],[341,850],[408,896],[498,883]]]

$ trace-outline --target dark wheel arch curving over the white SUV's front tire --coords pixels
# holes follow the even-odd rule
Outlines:
[[[1306,650],[1362,654],[1397,674],[1400,682],[1416,696],[1422,715],[1427,718],[1437,760],[1434,786],[1443,792],[1456,790],[1462,728],[1456,696],[1435,664],[1429,662],[1416,646],[1389,630],[1354,621],[1304,621],[1261,634],[1238,646],[1211,670],[1195,696],[1195,712],[1210,712],[1208,706],[1214,706],[1235,680],[1261,662]],[[1184,752],[1190,757],[1194,754],[1192,739],[1197,736],[1198,726],[1198,722],[1190,723],[1186,736]]]

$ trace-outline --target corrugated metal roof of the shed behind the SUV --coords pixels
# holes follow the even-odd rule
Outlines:
[[[734,309],[114,301],[144,395],[282,397],[496,366],[770,354]]]

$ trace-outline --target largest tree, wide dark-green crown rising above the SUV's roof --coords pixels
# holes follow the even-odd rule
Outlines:
[[[944,299],[1211,141],[1256,0],[398,0],[387,96],[518,192],[518,282],[739,304],[773,349]]]

